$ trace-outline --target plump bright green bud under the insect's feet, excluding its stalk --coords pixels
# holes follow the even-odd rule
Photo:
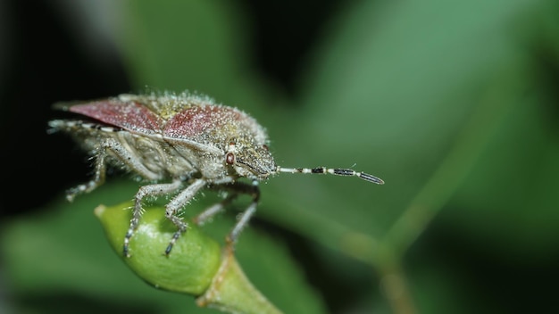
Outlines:
[[[114,251],[130,269],[150,285],[172,292],[198,295],[204,293],[220,267],[221,248],[212,238],[204,236],[197,227],[189,227],[165,256],[165,248],[177,230],[165,219],[163,208],[147,209],[130,244],[130,257],[122,253],[124,236],[129,228],[131,203],[114,207],[99,206],[96,216]]]

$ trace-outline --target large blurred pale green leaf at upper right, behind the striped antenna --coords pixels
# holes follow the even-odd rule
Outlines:
[[[417,225],[410,227],[425,227],[455,193],[513,105],[506,98],[507,103],[487,107],[495,121],[478,129],[471,120],[478,119],[474,114],[484,116],[488,88],[511,74],[521,79],[515,87],[526,90],[531,84],[521,76],[526,59],[519,50],[521,38],[511,29],[522,29],[526,14],[540,4],[356,4],[333,24],[339,30],[327,34],[314,55],[314,70],[304,82],[304,106],[290,116],[294,127],[283,130],[286,136],[273,137],[273,129],[271,135],[280,164],[348,167],[355,162],[355,169],[380,176],[386,185],[344,178],[275,179],[270,186],[277,191],[281,180],[282,194],[288,197],[274,198],[267,205],[274,211],[267,214],[342,251],[348,236],[367,235],[366,255],[402,219],[413,199],[434,187],[427,185],[446,164],[440,178],[449,180],[437,183],[444,191],[431,188],[421,196],[435,208],[411,221]],[[461,143],[461,138],[470,142]],[[468,154],[449,155],[460,150]],[[308,228],[302,221],[316,223]]]

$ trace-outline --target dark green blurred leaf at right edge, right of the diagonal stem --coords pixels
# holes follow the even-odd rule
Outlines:
[[[511,112],[455,196],[454,215],[446,217],[511,258],[549,258],[559,245],[559,136],[542,123],[534,92],[511,100]]]

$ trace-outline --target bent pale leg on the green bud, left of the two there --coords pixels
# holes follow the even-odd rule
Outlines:
[[[144,211],[142,208],[142,200],[144,199],[144,197],[171,194],[177,191],[181,185],[182,185],[182,181],[179,179],[175,179],[171,183],[141,186],[139,188],[138,193],[135,196],[134,212],[132,214],[132,219],[130,219],[130,225],[128,231],[126,232],[126,236],[124,236],[124,244],[122,245],[122,253],[124,254],[124,256],[130,257],[129,242],[130,242],[130,238],[134,235],[134,232],[138,228],[140,216],[142,216],[142,213]]]

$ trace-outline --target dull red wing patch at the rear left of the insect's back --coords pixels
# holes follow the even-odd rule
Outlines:
[[[76,104],[68,108],[68,111],[143,134],[160,133],[163,126],[161,117],[150,111],[146,106],[133,102],[104,100]]]

